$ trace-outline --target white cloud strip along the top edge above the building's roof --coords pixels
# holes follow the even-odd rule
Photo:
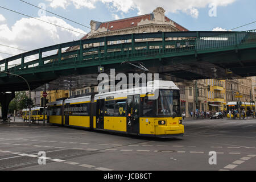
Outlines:
[[[81,9],[87,7],[89,9],[96,8],[97,2],[102,2],[110,9],[115,11],[121,11],[123,13],[128,13],[129,10],[138,10],[138,14],[148,14],[151,13],[156,7],[163,7],[167,12],[170,13],[187,13],[193,18],[199,16],[200,8],[207,7],[210,3],[216,6],[227,6],[236,0],[47,0],[50,6],[53,8],[63,7],[64,9],[73,4],[76,9]]]

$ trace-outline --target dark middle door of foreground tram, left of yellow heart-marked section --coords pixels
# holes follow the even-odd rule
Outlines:
[[[104,106],[105,106],[105,99],[97,100],[96,129],[104,129]]]

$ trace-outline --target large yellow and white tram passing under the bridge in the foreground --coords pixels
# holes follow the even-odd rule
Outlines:
[[[154,82],[147,82],[147,87],[51,102],[48,122],[112,133],[182,137],[179,88],[172,81],[157,81],[157,87]]]

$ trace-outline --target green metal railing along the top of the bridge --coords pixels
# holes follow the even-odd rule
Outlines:
[[[128,40],[128,41],[124,41]],[[104,46],[97,46],[104,43]],[[118,42],[118,44],[109,44]],[[67,69],[70,65],[100,64],[106,61],[147,59],[183,52],[195,52],[200,50],[221,49],[230,46],[239,46],[256,43],[256,32],[155,32],[146,34],[127,34],[107,36],[94,39],[78,40],[64,44],[44,47],[12,56],[1,60],[5,64],[5,71],[12,73],[30,73],[43,68]],[[94,45],[84,48],[84,45]],[[63,52],[63,48],[78,47],[78,49]],[[43,53],[56,50],[56,53],[43,57]],[[25,63],[25,58],[38,55],[38,59]],[[20,60],[18,65],[10,68],[9,63]],[[15,63],[16,64],[16,63]],[[1,74],[3,75],[3,74]]]

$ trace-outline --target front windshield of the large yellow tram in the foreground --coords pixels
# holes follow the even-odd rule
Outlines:
[[[179,90],[159,90],[156,104],[158,116],[180,117]]]

